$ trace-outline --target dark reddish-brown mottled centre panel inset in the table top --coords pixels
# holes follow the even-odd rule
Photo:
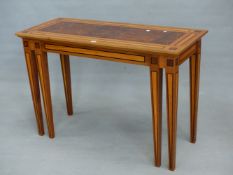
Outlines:
[[[63,21],[42,28],[41,31],[163,45],[171,44],[185,34],[176,31]]]

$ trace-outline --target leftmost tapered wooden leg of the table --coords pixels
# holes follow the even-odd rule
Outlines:
[[[25,42],[27,43],[27,42]],[[44,135],[43,116],[40,100],[40,88],[38,80],[38,70],[35,60],[35,52],[25,47],[25,60],[27,65],[28,77],[31,87],[32,101],[36,115],[37,128],[39,135]]]

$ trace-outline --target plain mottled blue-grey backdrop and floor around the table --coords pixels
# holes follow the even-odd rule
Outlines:
[[[232,174],[232,9],[231,0],[2,0],[0,175]],[[55,17],[209,30],[195,145],[189,143],[188,62],[180,67],[176,172],[167,170],[165,89],[162,166],[153,165],[148,67],[71,56],[74,115],[67,117],[59,56],[48,54],[56,138],[38,136],[22,43],[14,33]]]

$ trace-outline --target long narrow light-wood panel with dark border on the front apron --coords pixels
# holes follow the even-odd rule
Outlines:
[[[56,45],[51,45],[51,44],[45,44],[45,49],[62,51],[62,52],[78,53],[78,54],[84,54],[84,55],[109,57],[109,58],[123,59],[123,60],[129,60],[129,61],[145,62],[145,57],[139,56],[139,55],[128,55],[128,54],[122,54],[122,53],[104,52],[104,51],[99,51],[99,50],[81,49],[81,48],[75,48],[75,47],[56,46]]]

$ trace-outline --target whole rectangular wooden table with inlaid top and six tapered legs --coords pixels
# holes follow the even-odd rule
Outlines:
[[[60,54],[67,113],[73,114],[69,55],[150,68],[155,165],[161,165],[162,81],[166,72],[169,169],[175,169],[179,66],[190,62],[190,142],[196,142],[201,38],[207,30],[57,18],[17,32],[23,39],[38,132],[41,86],[50,138],[54,124],[47,52]]]

